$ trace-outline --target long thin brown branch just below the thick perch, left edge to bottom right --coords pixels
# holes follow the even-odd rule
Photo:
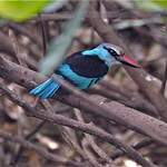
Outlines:
[[[43,120],[47,120],[47,121],[50,121],[53,124],[58,124],[58,125],[62,125],[62,126],[68,126],[68,127],[75,128],[77,130],[81,130],[84,132],[95,135],[95,136],[101,138],[102,140],[108,141],[111,145],[118,147],[119,149],[125,151],[127,154],[127,156],[129,156],[131,159],[134,159],[138,164],[143,165],[144,167],[154,167],[154,165],[151,163],[144,159],[134,148],[127,146],[122,141],[119,141],[114,136],[106,132],[105,130],[99,129],[98,127],[95,127],[95,126],[81,124],[79,121],[72,120],[70,118],[66,118],[60,115],[55,115],[51,111],[46,112],[42,109],[33,108],[33,107],[29,106],[27,102],[24,102],[22,99],[20,99],[18,95],[16,95],[13,91],[9,90],[2,84],[0,84],[0,89],[2,89],[6,92],[6,95],[10,98],[10,100],[16,102],[20,107],[24,108],[26,114],[28,116],[37,117],[39,119],[43,119]]]

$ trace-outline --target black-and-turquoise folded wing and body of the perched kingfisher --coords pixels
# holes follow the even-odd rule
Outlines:
[[[97,56],[85,57],[80,52],[69,57],[56,73],[61,75],[79,89],[95,85],[108,71],[108,66]]]

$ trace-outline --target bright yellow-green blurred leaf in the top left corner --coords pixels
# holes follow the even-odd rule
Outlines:
[[[0,17],[23,21],[37,14],[49,0],[0,0]]]

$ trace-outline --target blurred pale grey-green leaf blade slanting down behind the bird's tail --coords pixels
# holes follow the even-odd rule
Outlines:
[[[80,27],[81,21],[85,18],[88,4],[88,0],[84,0],[79,3],[73,18],[66,24],[62,35],[50,43],[47,56],[40,61],[39,68],[41,73],[51,73],[67,57],[67,50],[71,45],[76,30]]]

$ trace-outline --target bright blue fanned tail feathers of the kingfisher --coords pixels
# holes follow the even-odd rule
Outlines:
[[[51,98],[56,91],[59,89],[59,85],[55,82],[52,79],[48,79],[41,85],[37,86],[29,94],[40,97],[41,99]]]

